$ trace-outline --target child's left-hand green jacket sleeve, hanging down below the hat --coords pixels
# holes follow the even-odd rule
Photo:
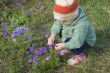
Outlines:
[[[54,24],[52,25],[52,28],[51,28],[51,35],[56,35],[56,34],[59,34],[60,30],[62,28],[62,25],[59,23],[58,20],[56,20],[54,22]]]

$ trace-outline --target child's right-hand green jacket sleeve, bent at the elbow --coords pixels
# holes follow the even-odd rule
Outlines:
[[[76,49],[80,48],[85,42],[87,35],[87,27],[80,26],[74,29],[73,37],[70,41],[64,43],[65,49]]]

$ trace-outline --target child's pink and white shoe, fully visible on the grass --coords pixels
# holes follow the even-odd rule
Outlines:
[[[70,58],[67,63],[70,66],[74,66],[76,64],[79,64],[80,62],[82,62],[83,60],[85,60],[86,56],[84,53],[75,55],[74,57]]]

